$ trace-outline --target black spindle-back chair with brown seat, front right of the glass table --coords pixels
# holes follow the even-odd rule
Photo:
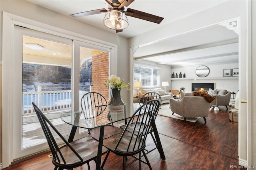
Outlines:
[[[146,138],[148,132],[152,128],[151,124],[158,112],[159,105],[160,102],[158,100],[147,101],[142,106],[140,106],[137,111],[135,111],[122,133],[115,134],[103,140],[103,146],[108,148],[108,152],[104,161],[102,162],[102,168],[106,163],[109,153],[113,152],[114,154],[123,156],[124,170],[126,169],[127,156],[132,156],[135,158],[135,160],[139,160],[140,169],[141,162],[143,162],[148,164],[148,167],[150,170],[152,170],[144,149],[146,147]],[[130,130],[127,130],[128,128],[130,128]],[[142,153],[146,162],[141,159]],[[139,154],[139,157],[134,156],[136,154]],[[127,166],[129,165],[130,164]]]

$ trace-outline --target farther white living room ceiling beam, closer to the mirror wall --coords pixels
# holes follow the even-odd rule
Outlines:
[[[202,56],[202,57],[178,59],[178,60],[172,60],[172,61],[164,61],[164,62],[160,62],[157,64],[168,64],[168,63],[175,63],[175,62],[182,62],[182,61],[184,62],[184,61],[192,61],[192,60],[198,60],[198,59],[208,59],[208,58],[212,58],[212,57],[225,57],[225,56],[231,56],[231,55],[238,55],[238,52],[206,55],[206,56]]]

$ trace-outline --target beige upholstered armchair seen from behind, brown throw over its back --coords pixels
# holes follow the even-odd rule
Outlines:
[[[185,93],[180,101],[170,99],[170,109],[172,115],[176,113],[184,117],[185,122],[187,117],[203,117],[206,122],[210,103],[202,96],[194,96],[193,93]]]

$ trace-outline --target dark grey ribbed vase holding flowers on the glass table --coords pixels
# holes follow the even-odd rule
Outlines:
[[[111,89],[111,96],[108,101],[108,111],[120,112],[124,109],[124,102],[122,101],[120,90]]]

